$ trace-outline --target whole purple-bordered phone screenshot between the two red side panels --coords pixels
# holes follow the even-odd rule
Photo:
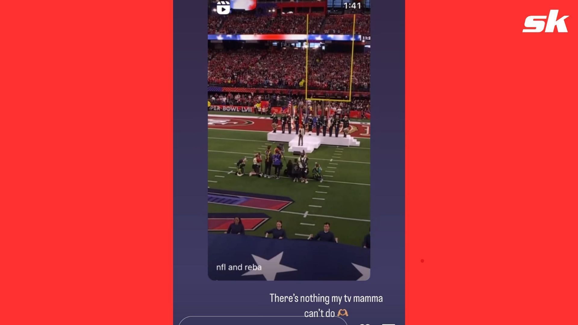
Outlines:
[[[186,220],[195,246],[175,247],[176,324],[403,324],[403,21],[386,14],[403,2],[376,3],[191,16],[207,22],[191,39],[206,46],[207,201]]]

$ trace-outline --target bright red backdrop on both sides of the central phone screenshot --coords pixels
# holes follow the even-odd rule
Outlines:
[[[407,324],[576,323],[578,4],[406,9]],[[550,9],[567,34],[521,32]],[[170,2],[0,27],[0,323],[171,323]]]

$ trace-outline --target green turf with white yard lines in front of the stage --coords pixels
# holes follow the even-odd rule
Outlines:
[[[280,212],[209,203],[209,213],[266,213],[271,219],[255,231],[246,231],[247,235],[255,236],[264,236],[266,230],[275,227],[277,220],[282,220],[288,238],[306,239],[306,235],[316,234],[323,230],[325,222],[329,222],[340,243],[361,246],[370,226],[369,139],[357,138],[360,147],[322,145],[308,154],[309,169],[318,162],[323,168],[324,181],[309,179],[305,184],[288,178],[235,175],[239,159],[247,157],[245,173],[249,173],[253,154],[264,153],[267,145],[272,148],[277,145],[266,140],[266,132],[209,128],[208,133],[210,189],[279,195],[295,201]],[[285,148],[286,160],[297,157],[288,152],[288,143]]]

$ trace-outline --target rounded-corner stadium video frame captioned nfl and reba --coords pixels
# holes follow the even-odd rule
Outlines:
[[[211,279],[369,278],[370,2],[356,3],[209,1]]]

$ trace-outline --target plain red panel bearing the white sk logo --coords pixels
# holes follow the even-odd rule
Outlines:
[[[407,324],[578,323],[577,45],[576,1],[406,1]]]

